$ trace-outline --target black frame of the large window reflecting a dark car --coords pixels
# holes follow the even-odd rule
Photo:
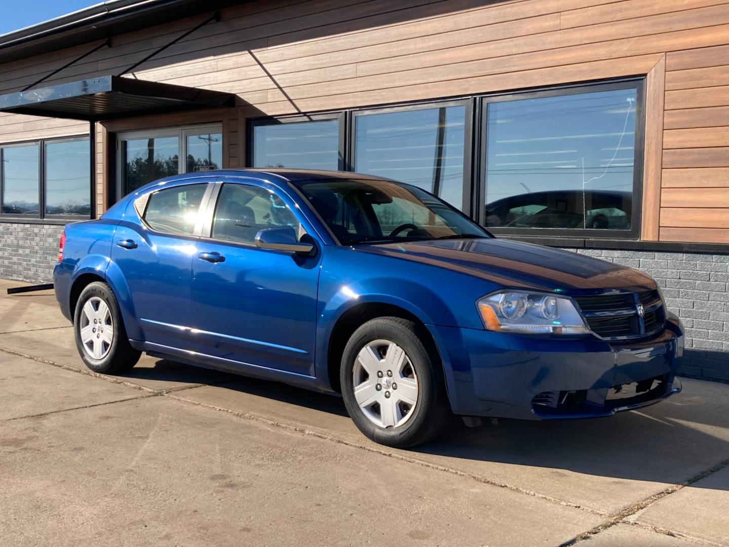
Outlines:
[[[630,230],[590,230],[589,228],[504,228],[499,226],[486,226],[486,193],[488,179],[486,178],[488,138],[488,105],[493,103],[519,101],[530,98],[557,97],[595,93],[599,91],[612,91],[621,89],[636,90],[636,127],[635,147],[633,160],[633,189],[631,195],[631,228]],[[584,239],[639,239],[641,235],[642,197],[643,197],[643,163],[645,147],[645,79],[644,77],[625,78],[610,82],[594,82],[561,85],[552,88],[539,88],[535,90],[498,93],[480,96],[478,101],[478,120],[476,127],[479,140],[477,163],[477,183],[475,189],[475,211],[472,211],[474,220],[484,226],[495,236],[518,237],[545,237],[545,238],[584,238]]]

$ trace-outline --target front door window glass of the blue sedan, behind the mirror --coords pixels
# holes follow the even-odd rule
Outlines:
[[[290,226],[297,236],[303,230],[278,195],[257,186],[226,184],[220,190],[212,237],[254,244],[258,230]]]

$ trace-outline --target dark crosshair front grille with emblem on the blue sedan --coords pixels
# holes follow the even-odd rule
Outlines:
[[[577,296],[590,330],[602,338],[639,338],[660,330],[666,312],[658,290],[619,292],[612,295]],[[644,316],[638,306],[644,307]]]

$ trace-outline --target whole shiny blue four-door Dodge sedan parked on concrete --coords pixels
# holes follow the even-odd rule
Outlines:
[[[389,446],[453,414],[609,416],[681,389],[683,328],[649,276],[373,176],[162,179],[67,225],[54,276],[91,370],[146,352],[338,393]]]

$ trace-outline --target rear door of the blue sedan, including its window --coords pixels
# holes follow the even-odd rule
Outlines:
[[[190,282],[207,181],[162,187],[130,205],[117,226],[112,260],[122,270],[145,340],[194,349]],[[140,218],[141,217],[141,218]]]

